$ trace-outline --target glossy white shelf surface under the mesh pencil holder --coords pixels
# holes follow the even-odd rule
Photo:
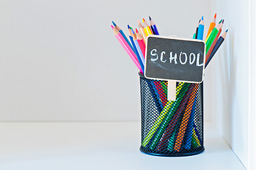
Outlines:
[[[0,123],[0,169],[244,170],[213,125],[204,126],[202,154],[154,157],[139,151],[140,123]]]

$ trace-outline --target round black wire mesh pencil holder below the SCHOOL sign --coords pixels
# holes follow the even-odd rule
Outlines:
[[[146,154],[183,157],[203,152],[203,83],[177,82],[176,101],[167,101],[167,81],[139,73],[142,145]]]

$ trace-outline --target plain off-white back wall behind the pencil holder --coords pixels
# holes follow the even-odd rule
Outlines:
[[[191,38],[209,9],[203,0],[0,1],[0,121],[139,120],[138,70],[111,21],[127,32],[151,16],[161,35]]]

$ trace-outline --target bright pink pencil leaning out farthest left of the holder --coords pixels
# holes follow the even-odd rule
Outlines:
[[[139,65],[139,61],[135,55],[135,53],[133,52],[132,48],[128,45],[127,41],[124,40],[123,36],[121,33],[119,33],[119,31],[114,28],[113,26],[112,27],[112,30],[114,31],[114,35],[116,36],[117,40],[120,42],[120,44],[124,47],[124,50],[128,53],[129,57],[131,57],[132,61],[134,62],[134,64],[138,67],[139,71],[141,73],[142,72],[142,68],[140,67]]]

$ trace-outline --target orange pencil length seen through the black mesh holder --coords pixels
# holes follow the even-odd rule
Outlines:
[[[181,149],[181,144],[182,144],[182,141],[183,141],[183,137],[185,135],[186,128],[187,128],[187,125],[188,125],[188,120],[189,120],[189,117],[191,115],[192,106],[193,106],[193,103],[194,103],[195,98],[196,98],[197,89],[198,89],[198,84],[193,84],[193,90],[192,90],[191,96],[188,99],[188,104],[185,108],[185,113],[183,115],[183,119],[181,121],[181,125],[180,125],[180,128],[178,130],[178,135],[177,135],[176,142],[175,142],[175,145],[174,145],[174,150],[176,150],[177,152],[179,152],[180,149]]]

